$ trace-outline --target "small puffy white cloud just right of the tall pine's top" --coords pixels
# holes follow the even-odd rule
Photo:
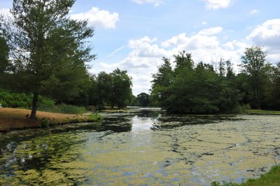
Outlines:
[[[95,24],[105,29],[113,29],[118,22],[118,13],[110,13],[107,10],[99,10],[97,7],[92,7],[85,13],[72,14],[73,20],[88,20],[90,24]]]

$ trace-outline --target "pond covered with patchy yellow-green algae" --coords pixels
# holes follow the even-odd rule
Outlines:
[[[280,116],[102,113],[71,124],[0,134],[0,185],[241,183],[280,162]]]

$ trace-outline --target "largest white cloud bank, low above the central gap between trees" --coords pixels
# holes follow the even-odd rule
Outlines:
[[[127,70],[133,78],[133,92],[137,95],[148,92],[153,80],[151,74],[158,71],[158,66],[162,64],[162,57],[173,60],[173,55],[182,50],[190,52],[195,62],[218,62],[218,59],[223,57],[232,60],[232,63],[237,66],[240,56],[248,45],[241,41],[221,43],[216,36],[221,31],[223,31],[222,27],[213,27],[198,31],[192,36],[182,33],[162,42],[158,41],[158,38],[148,36],[132,39],[127,45],[131,52],[125,59],[114,64],[103,62],[100,68],[108,72],[116,68]]]

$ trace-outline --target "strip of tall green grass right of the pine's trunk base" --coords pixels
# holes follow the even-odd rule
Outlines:
[[[62,103],[55,106],[39,106],[39,111],[45,111],[50,113],[64,113],[64,114],[83,114],[87,112],[87,109],[82,106],[71,106]]]

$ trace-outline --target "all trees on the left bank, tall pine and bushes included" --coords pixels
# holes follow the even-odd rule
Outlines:
[[[10,103],[2,92],[3,106],[31,107],[32,119],[42,97],[57,104],[126,106],[132,97],[132,81],[126,71],[88,73],[87,62],[96,57],[89,42],[94,27],[87,20],[70,18],[74,3],[13,0],[10,17],[0,15],[0,88],[9,96],[22,98],[14,100],[30,101]]]

